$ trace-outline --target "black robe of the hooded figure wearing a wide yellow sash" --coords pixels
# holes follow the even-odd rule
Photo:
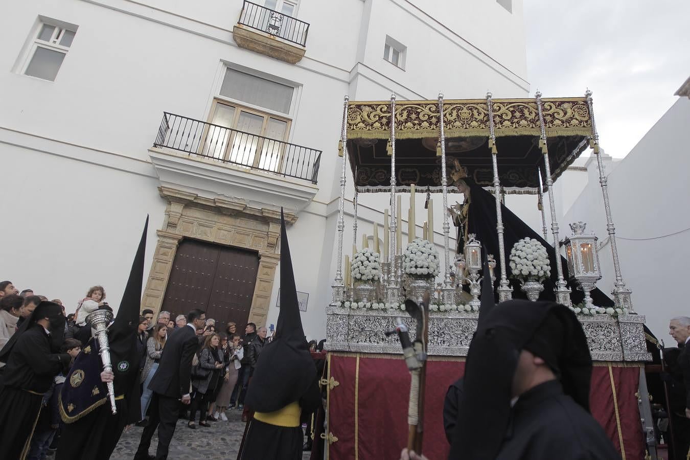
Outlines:
[[[313,385],[299,399],[302,413],[313,412],[321,405],[319,384],[314,378]],[[270,442],[267,440],[270,439]],[[244,446],[238,459],[273,459],[301,460],[304,432],[301,426],[284,427],[264,423],[259,420],[249,421]]]

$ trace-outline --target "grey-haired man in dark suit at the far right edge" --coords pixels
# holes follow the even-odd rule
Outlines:
[[[678,343],[680,353],[671,371],[671,418],[673,422],[673,459],[687,459],[690,450],[690,318],[676,317],[669,323],[669,334]]]

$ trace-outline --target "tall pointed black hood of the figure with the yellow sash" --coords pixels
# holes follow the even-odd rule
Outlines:
[[[246,404],[274,412],[298,401],[316,379],[316,365],[304,338],[285,218],[280,211],[280,313],[276,336],[262,351]]]

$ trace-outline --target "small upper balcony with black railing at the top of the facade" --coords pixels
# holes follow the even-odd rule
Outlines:
[[[296,63],[304,57],[308,32],[308,23],[245,0],[233,39],[242,48]]]

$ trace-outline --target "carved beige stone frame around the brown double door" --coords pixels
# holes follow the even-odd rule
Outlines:
[[[249,206],[242,199],[210,199],[164,186],[158,191],[168,204],[163,228],[156,232],[158,241],[141,308],[150,308],[155,316],[161,310],[177,246],[186,237],[259,252],[259,270],[248,321],[257,327],[265,326],[275,268],[280,261],[280,211]],[[286,223],[296,220],[296,214],[285,212]],[[221,329],[224,330],[224,326]]]

